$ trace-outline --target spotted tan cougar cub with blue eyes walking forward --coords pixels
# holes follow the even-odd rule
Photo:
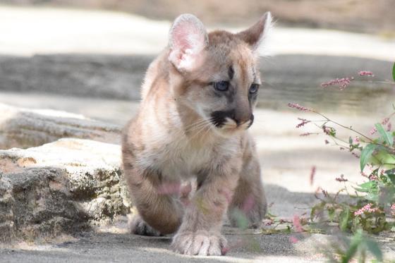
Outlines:
[[[248,128],[260,88],[258,59],[271,27],[265,13],[233,34],[207,33],[195,16],[176,18],[169,46],[148,68],[138,114],[123,132],[123,171],[138,210],[132,233],[176,233],[187,255],[221,255],[226,211],[259,225],[267,203]],[[188,202],[181,181],[196,178]]]

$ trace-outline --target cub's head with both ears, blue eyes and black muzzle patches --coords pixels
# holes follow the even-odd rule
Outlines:
[[[237,34],[207,33],[190,14],[176,18],[169,39],[171,92],[176,101],[222,135],[249,128],[261,85],[258,59],[271,26],[270,13]]]

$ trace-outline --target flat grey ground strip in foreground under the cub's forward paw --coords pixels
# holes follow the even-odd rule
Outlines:
[[[226,231],[234,247],[221,257],[189,257],[169,250],[170,238],[140,237],[128,234],[86,233],[78,240],[59,245],[20,245],[0,249],[1,262],[324,262],[315,250],[326,237],[315,234],[299,236],[290,242],[290,235],[236,235]]]

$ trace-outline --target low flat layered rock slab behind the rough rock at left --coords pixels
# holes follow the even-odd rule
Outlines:
[[[63,111],[0,104],[0,149],[35,147],[63,137],[119,143],[119,126]]]

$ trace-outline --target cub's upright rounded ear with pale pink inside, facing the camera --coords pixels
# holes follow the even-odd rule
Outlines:
[[[203,23],[191,14],[174,20],[169,36],[169,61],[178,71],[192,71],[200,65],[203,49],[209,42]]]

